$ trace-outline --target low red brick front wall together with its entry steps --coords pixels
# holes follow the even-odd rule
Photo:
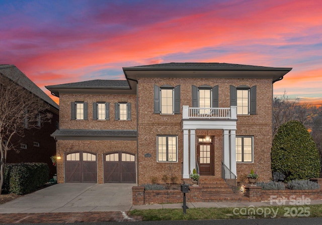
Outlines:
[[[262,190],[258,186],[245,186],[245,193],[233,193],[224,180],[205,177],[199,180],[198,187],[189,186],[186,201],[269,201],[272,196],[273,200],[303,198],[303,196],[310,200],[322,199],[322,178],[315,178],[314,181],[320,185],[319,190]],[[132,187],[132,197],[133,205],[183,202],[183,193],[180,190],[144,190],[142,186]]]

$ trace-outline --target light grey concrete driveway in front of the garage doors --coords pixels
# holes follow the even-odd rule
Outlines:
[[[128,211],[136,184],[55,184],[0,205],[0,213]]]

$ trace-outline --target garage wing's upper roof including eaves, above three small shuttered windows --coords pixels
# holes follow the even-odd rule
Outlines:
[[[135,93],[127,80],[89,80],[45,87],[57,97],[59,93]]]

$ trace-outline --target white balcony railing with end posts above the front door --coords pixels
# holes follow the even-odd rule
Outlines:
[[[203,108],[183,106],[182,119],[237,119],[237,106],[229,108]]]

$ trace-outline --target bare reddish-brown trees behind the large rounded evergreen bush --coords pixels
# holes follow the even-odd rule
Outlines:
[[[288,121],[299,121],[306,129],[313,126],[317,108],[308,103],[301,103],[299,98],[291,100],[286,92],[281,97],[273,98],[273,137],[279,127]]]

